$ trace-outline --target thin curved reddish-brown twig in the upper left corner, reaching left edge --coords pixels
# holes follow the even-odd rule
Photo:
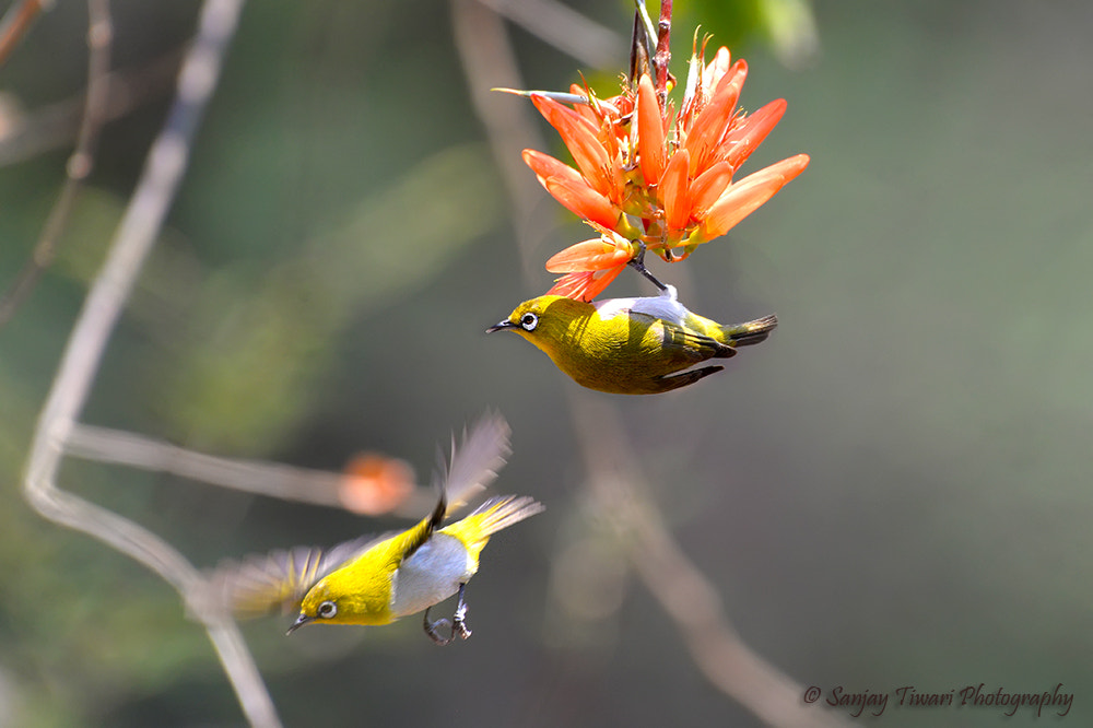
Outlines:
[[[49,211],[42,236],[34,246],[31,259],[26,261],[2,296],[0,296],[0,326],[15,314],[19,306],[34,290],[42,273],[54,261],[57,240],[72,214],[83,180],[94,165],[98,132],[103,127],[106,102],[109,96],[110,37],[114,34],[110,22],[109,0],[87,1],[87,95],[84,101],[83,120],[77,134],[75,151],[66,167],[67,178],[61,193]],[[2,61],[0,61],[2,62]]]

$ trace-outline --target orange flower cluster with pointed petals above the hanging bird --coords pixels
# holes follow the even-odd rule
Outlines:
[[[668,89],[657,90],[648,74],[607,99],[577,85],[569,95],[528,94],[576,168],[531,149],[524,161],[548,192],[600,234],[546,261],[546,270],[565,273],[550,293],[591,301],[643,245],[665,260],[682,260],[808,166],[809,156],[798,154],[733,180],[786,102],[744,114],[737,101],[748,64],[730,63],[724,47],[709,63],[704,56],[705,44],[691,56],[679,113],[666,99]]]

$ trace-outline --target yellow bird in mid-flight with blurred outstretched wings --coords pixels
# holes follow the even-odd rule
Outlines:
[[[432,514],[401,533],[362,537],[327,552],[301,547],[225,562],[208,579],[210,594],[237,617],[258,617],[280,607],[298,610],[289,634],[305,624],[389,624],[425,611],[425,633],[446,645],[466,639],[468,579],[490,537],[544,509],[529,496],[492,497],[473,513],[440,528],[448,494],[481,490],[495,477],[508,453],[508,425],[486,418],[457,450],[438,484]],[[439,480],[439,478],[438,478]],[[458,594],[453,619],[430,621],[434,604]],[[450,633],[440,633],[450,627]]]

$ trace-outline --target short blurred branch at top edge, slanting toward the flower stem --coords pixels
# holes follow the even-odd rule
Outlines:
[[[608,68],[625,52],[622,36],[557,0],[479,2],[586,66]]]

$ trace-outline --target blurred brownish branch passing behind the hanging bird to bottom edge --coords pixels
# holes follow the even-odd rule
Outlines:
[[[528,114],[513,113],[513,99],[483,89],[524,87],[508,37],[496,14],[470,0],[451,2],[456,47],[471,87],[471,97],[486,126],[494,155],[503,171],[517,215],[517,228],[542,196],[534,175],[514,162],[524,146],[534,145]],[[496,116],[495,116],[496,115]],[[540,145],[541,148],[541,145]],[[520,255],[532,270],[530,246],[520,238]],[[572,389],[571,389],[572,391]],[[645,496],[637,455],[627,445],[625,427],[614,408],[600,398],[574,392],[569,409],[584,448],[588,488],[599,510],[624,533],[624,545],[635,573],[663,607],[683,636],[692,659],[718,690],[738,701],[762,720],[775,726],[844,725],[832,714],[809,711],[803,688],[784,676],[744,645],[725,614],[717,589],[686,559],[665,526],[659,512]],[[813,706],[814,707],[814,706]]]

